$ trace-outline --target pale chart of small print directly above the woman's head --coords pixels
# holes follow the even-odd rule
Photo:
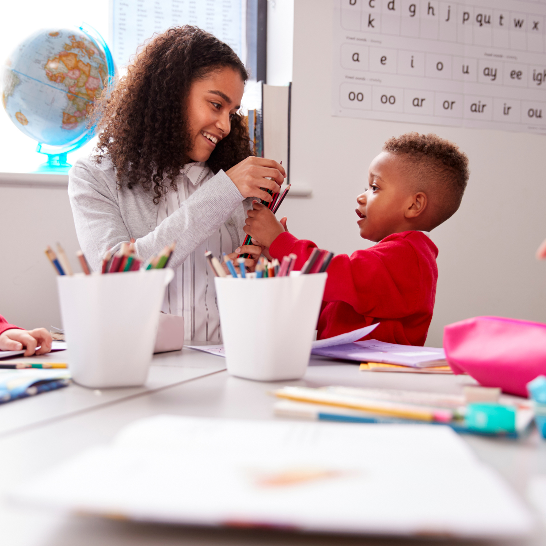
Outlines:
[[[155,32],[177,25],[203,28],[244,57],[242,0],[112,0],[110,5],[110,43],[118,66],[125,66]]]

